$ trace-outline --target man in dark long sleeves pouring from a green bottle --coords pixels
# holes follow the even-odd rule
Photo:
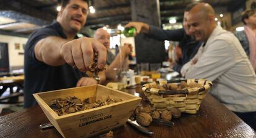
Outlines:
[[[195,3],[196,4],[196,3]],[[180,72],[182,66],[189,62],[195,54],[197,54],[198,48],[201,46],[199,41],[195,41],[195,39],[190,36],[189,29],[187,26],[187,14],[192,6],[187,6],[184,12],[184,20],[183,20],[183,28],[177,30],[163,30],[159,27],[148,25],[143,22],[129,22],[125,27],[135,27],[137,33],[145,33],[149,38],[158,39],[161,41],[169,40],[169,41],[179,41],[179,47],[182,51],[182,58],[179,59],[176,65],[174,65],[173,69],[175,71]]]

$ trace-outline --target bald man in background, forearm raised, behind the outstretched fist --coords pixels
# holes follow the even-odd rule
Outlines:
[[[98,28],[95,31],[94,38],[100,41],[107,50],[107,59],[106,63],[109,65],[106,69],[106,78],[108,79],[116,79],[117,73],[121,71],[121,69],[129,68],[129,55],[132,54],[132,45],[124,44],[121,47],[120,52],[114,56],[112,52],[109,51],[109,39],[110,34],[104,30],[103,28]]]

